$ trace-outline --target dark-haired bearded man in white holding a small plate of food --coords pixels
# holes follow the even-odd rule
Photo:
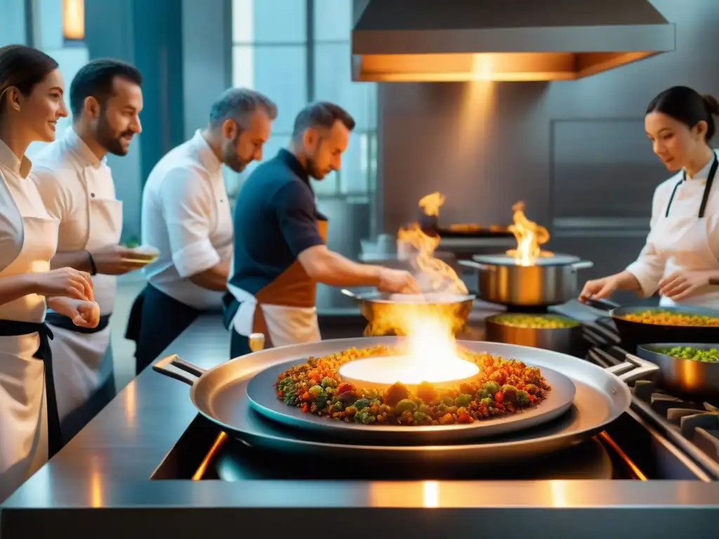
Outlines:
[[[96,328],[80,328],[49,311],[52,361],[63,440],[93,418],[115,395],[109,318],[116,275],[137,269],[132,250],[119,247],[122,202],[105,156],[126,155],[142,128],[142,75],[119,60],[93,60],[70,84],[72,127],[42,149],[32,174],[47,210],[60,220],[53,268],[91,272],[100,305]]]

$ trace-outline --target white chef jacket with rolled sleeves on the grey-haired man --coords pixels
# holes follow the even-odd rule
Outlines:
[[[189,279],[232,261],[232,215],[222,163],[200,130],[150,172],[142,193],[142,243],[160,250],[143,270],[152,286],[196,309],[221,308],[222,292]]]

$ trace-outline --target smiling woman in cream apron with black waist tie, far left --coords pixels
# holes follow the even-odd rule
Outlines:
[[[45,298],[78,326],[100,317],[89,275],[49,271],[58,221],[27,177],[27,147],[52,142],[67,115],[58,63],[30,47],[0,48],[0,502],[60,442]]]

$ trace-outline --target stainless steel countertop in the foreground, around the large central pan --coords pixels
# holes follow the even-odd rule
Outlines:
[[[219,315],[198,318],[170,352],[204,368],[225,361],[229,336]],[[319,522],[328,533],[342,530],[343,539],[398,532],[436,539],[498,530],[501,522],[503,539],[544,536],[538,530],[558,537],[676,539],[709,536],[719,516],[719,483],[700,481],[148,479],[194,418],[188,386],[147,369],[6,500],[0,535],[35,539],[72,529],[74,539],[98,533],[138,539],[162,530],[189,538],[227,525],[242,535],[279,537],[314,527],[301,522]],[[358,519],[361,526],[348,525]]]

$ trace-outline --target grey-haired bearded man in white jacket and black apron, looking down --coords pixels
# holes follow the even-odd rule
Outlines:
[[[277,107],[261,93],[230,88],[209,124],[162,157],[142,193],[142,241],[160,249],[132,307],[127,338],[142,372],[197,316],[221,310],[232,262],[232,213],[222,165],[241,172],[262,159]]]

